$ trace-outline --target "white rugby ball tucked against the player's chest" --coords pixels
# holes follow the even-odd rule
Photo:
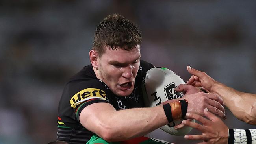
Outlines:
[[[167,68],[151,68],[145,74],[142,83],[145,105],[155,107],[164,101],[183,97],[181,92],[174,90],[182,83],[185,83],[183,79]],[[182,129],[174,129],[174,126],[181,122],[182,120],[176,120],[160,128],[171,135],[186,135],[192,127],[184,126]]]

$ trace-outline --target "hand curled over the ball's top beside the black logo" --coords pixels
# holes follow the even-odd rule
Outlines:
[[[176,92],[183,92],[185,95],[201,92],[201,90],[199,88],[194,87],[193,85],[186,85],[186,84],[180,84],[174,90]]]

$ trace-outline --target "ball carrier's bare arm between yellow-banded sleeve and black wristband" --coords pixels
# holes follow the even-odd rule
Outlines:
[[[81,111],[79,119],[106,141],[139,137],[168,124],[163,105],[116,111],[109,103],[93,103]]]

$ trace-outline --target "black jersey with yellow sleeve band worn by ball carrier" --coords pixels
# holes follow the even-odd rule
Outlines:
[[[116,110],[145,107],[141,83],[145,73],[154,66],[140,60],[132,94],[119,97],[96,78],[92,65],[85,66],[65,85],[58,109],[57,140],[70,144],[85,144],[94,135],[79,122],[79,115],[84,107],[92,103],[106,102]]]

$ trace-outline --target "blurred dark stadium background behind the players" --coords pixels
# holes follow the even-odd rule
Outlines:
[[[89,64],[96,26],[113,13],[137,24],[154,66],[187,81],[190,65],[256,94],[255,0],[0,0],[0,144],[55,140],[63,87]],[[226,115],[230,128],[256,128]],[[161,129],[148,136],[195,143]]]

